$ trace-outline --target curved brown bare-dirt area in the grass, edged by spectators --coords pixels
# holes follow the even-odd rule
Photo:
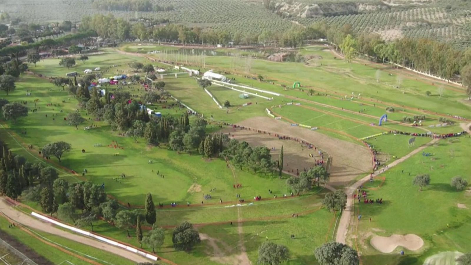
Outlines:
[[[237,123],[237,125],[255,128],[261,131],[275,132],[280,135],[290,135],[298,139],[309,141],[316,147],[322,149],[333,158],[329,181],[329,184],[333,186],[349,183],[359,174],[364,174],[372,170],[371,154],[364,146],[335,139],[306,128],[291,126],[286,122],[270,117],[254,117]],[[239,129],[235,131],[234,129],[228,130],[231,134],[235,133],[236,139],[247,141],[253,145],[265,145],[268,148],[275,147],[276,150],[273,152],[274,159],[278,158],[281,144],[290,146],[290,148],[284,147],[284,169],[296,170],[296,168],[299,168],[301,171],[304,170],[305,167],[309,168],[313,164],[313,158],[309,157],[309,153],[315,154],[316,151],[314,149],[304,149],[304,152],[302,152],[300,148],[291,147],[292,144],[288,144],[289,140],[277,140],[276,137],[268,136],[263,133],[246,133]],[[300,146],[300,144],[297,143],[295,145]],[[289,167],[286,166],[287,163],[290,164]]]

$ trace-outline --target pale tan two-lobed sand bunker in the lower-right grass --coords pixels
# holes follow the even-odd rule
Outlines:
[[[405,236],[395,234],[389,237],[374,236],[370,243],[382,253],[391,253],[399,246],[409,250],[417,250],[423,246],[423,240],[414,234],[406,234]]]

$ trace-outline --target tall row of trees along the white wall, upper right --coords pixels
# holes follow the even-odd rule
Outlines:
[[[366,55],[382,63],[389,61],[448,80],[460,75],[471,97],[471,48],[457,50],[450,44],[429,39],[401,38],[385,42],[379,34],[356,35],[349,24],[337,27],[317,23],[306,31],[334,43],[349,62],[358,55]]]

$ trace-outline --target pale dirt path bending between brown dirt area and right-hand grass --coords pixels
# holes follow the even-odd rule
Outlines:
[[[421,147],[419,147],[419,148],[415,149],[414,151],[408,153],[406,156],[401,157],[398,160],[395,160],[394,162],[389,164],[385,170],[388,170],[391,167],[396,166],[399,163],[404,162],[407,158],[412,157],[413,155],[419,153],[423,149],[429,147],[430,145],[432,145],[432,144],[434,144],[438,141],[439,141],[439,139],[433,139],[432,141],[422,145]],[[378,170],[373,174],[373,176],[374,177],[378,176],[380,174],[380,172],[382,173],[383,171]],[[368,174],[365,177],[363,177],[361,180],[359,180],[359,181],[355,182],[353,185],[349,186],[345,190],[345,193],[347,193],[347,206],[346,206],[345,210],[343,210],[343,212],[342,212],[340,222],[339,222],[339,228],[337,229],[337,235],[336,235],[335,241],[345,244],[345,240],[347,238],[347,232],[349,230],[350,218],[351,218],[351,216],[353,214],[353,211],[354,211],[352,195],[360,185],[367,182],[369,179],[370,179],[370,175]]]

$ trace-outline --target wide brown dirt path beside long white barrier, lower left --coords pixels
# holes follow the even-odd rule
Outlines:
[[[123,250],[122,248],[114,247],[106,243],[102,243],[100,241],[93,240],[91,238],[79,236],[71,232],[66,232],[64,230],[60,230],[54,227],[52,224],[41,222],[38,219],[30,215],[26,215],[20,211],[15,210],[13,206],[10,205],[8,201],[6,201],[4,198],[0,199],[0,211],[3,215],[8,216],[8,218],[14,220],[16,223],[22,224],[24,226],[28,226],[32,229],[40,230],[43,232],[48,232],[53,235],[57,235],[57,236],[60,236],[69,240],[73,240],[75,242],[79,242],[79,243],[91,246],[93,248],[105,250],[114,255],[127,258],[134,262],[149,262],[150,261],[146,259],[145,257],[130,253],[128,251]]]

